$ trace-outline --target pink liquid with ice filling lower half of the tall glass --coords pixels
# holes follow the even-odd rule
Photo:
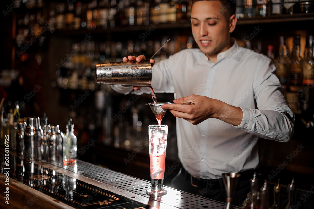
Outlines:
[[[150,177],[152,179],[163,179],[165,174],[166,153],[155,156],[153,153],[149,154],[150,159]]]

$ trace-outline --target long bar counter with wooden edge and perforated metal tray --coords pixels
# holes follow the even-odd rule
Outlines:
[[[1,147],[0,208],[225,208],[224,203],[166,186],[168,194],[149,196],[145,193],[149,181],[81,160],[64,166],[28,162],[14,151],[9,161],[5,157]]]

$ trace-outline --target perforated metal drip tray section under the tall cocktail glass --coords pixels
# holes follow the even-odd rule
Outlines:
[[[146,190],[151,186],[151,183],[148,181],[134,178],[120,182],[112,182],[110,184],[149,198],[149,195],[146,195],[145,193]],[[159,196],[156,200],[167,205],[179,208],[225,208],[225,204],[222,203],[214,202],[199,196],[174,190],[169,187],[165,187],[165,189],[168,192],[167,195]]]

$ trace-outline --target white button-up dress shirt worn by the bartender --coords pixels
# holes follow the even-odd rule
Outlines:
[[[258,137],[288,141],[294,121],[283,96],[283,88],[272,61],[263,54],[240,47],[236,41],[217,55],[217,62],[208,60],[199,49],[185,49],[152,68],[155,92],[173,92],[175,98],[191,94],[207,96],[241,107],[243,119],[233,126],[209,118],[193,125],[176,118],[179,159],[192,175],[205,179],[221,178],[221,173],[256,168],[259,162]],[[132,87],[112,85],[120,93]],[[151,93],[142,87],[137,94]],[[158,101],[157,102],[172,102]]]

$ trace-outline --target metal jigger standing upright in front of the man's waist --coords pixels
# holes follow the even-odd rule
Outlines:
[[[238,173],[223,173],[222,180],[224,181],[226,195],[227,195],[227,204],[225,209],[232,209],[232,197],[236,189],[236,184],[238,183],[238,178],[240,174]]]

